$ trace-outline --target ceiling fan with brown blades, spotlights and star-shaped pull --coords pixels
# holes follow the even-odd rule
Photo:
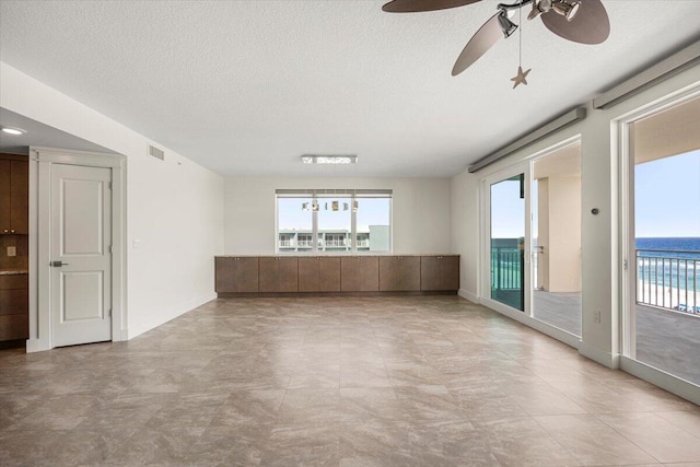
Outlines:
[[[481,0],[393,0],[382,7],[382,10],[412,13],[464,7],[479,1]],[[511,4],[499,3],[498,12],[477,31],[459,54],[452,75],[456,77],[474,65],[502,37],[510,37],[517,28],[510,19],[515,10],[526,4],[533,5],[528,20],[541,17],[549,31],[564,39],[580,44],[600,44],[610,34],[608,13],[600,0],[518,0]],[[518,70],[518,75],[521,73],[522,70]]]

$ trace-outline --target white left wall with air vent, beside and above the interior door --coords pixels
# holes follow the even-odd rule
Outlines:
[[[143,136],[3,62],[0,105],[126,156],[128,314],[122,338],[215,296],[213,256],[223,250],[221,176],[166,148],[164,162],[148,156]],[[137,240],[139,248],[133,247]]]

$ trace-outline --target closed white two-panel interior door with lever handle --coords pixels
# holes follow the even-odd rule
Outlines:
[[[112,168],[51,164],[55,347],[112,340]]]

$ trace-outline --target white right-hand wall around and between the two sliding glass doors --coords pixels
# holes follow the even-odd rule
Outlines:
[[[619,155],[614,120],[651,105],[673,93],[697,86],[700,66],[649,87],[608,109],[587,107],[583,121],[551,135],[476,174],[452,178],[452,249],[462,255],[460,294],[479,301],[479,184],[483,177],[525,161],[534,154],[580,135],[582,140],[582,299],[581,353],[608,366],[619,359],[620,225]],[[485,154],[486,155],[486,154]],[[591,210],[599,209],[598,215]],[[596,313],[600,319],[596,319]]]

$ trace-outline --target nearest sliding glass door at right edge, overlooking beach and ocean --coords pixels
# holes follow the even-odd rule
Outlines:
[[[700,96],[629,122],[625,355],[700,385]]]

